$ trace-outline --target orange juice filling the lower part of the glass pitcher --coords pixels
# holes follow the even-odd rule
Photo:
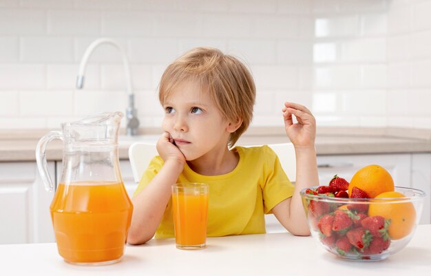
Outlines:
[[[59,184],[50,209],[60,255],[74,263],[119,259],[131,206],[120,182]]]

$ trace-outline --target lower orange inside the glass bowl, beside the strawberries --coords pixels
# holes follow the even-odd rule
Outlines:
[[[375,198],[403,198],[405,195],[396,191],[381,193]],[[395,203],[393,200],[385,203],[370,203],[368,215],[380,215],[385,220],[390,220],[388,234],[392,240],[406,237],[414,228],[416,211],[412,202]]]

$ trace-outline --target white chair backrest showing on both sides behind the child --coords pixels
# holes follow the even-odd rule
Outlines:
[[[246,146],[248,147],[248,146]],[[277,153],[284,172],[291,182],[296,180],[295,148],[290,142],[269,145]],[[156,144],[148,142],[135,142],[129,147],[129,160],[135,182],[139,182],[149,162],[157,156]]]

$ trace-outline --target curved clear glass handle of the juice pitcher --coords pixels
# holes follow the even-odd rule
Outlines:
[[[45,134],[39,140],[36,146],[36,163],[37,168],[39,169],[39,173],[41,174],[41,178],[43,181],[43,184],[45,185],[46,191],[54,191],[55,184],[52,181],[52,178],[50,176],[50,172],[48,171],[48,164],[46,162],[46,146],[49,142],[51,142],[54,139],[60,139],[63,140],[63,132],[61,131],[50,131],[48,134]]]

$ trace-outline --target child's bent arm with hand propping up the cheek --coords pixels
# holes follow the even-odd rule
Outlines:
[[[171,186],[176,183],[184,168],[185,158],[181,151],[169,142],[169,134],[163,134],[157,143],[157,150],[165,164],[151,182],[132,199],[134,209],[127,235],[129,244],[143,244],[154,236],[171,198]]]

